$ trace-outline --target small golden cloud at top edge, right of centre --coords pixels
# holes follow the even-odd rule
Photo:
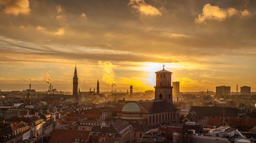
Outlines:
[[[131,0],[129,5],[144,15],[162,15],[157,8],[147,5],[144,0]]]

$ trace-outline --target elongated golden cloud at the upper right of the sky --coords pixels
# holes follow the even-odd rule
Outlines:
[[[196,23],[205,23],[207,19],[214,19],[223,21],[227,17],[238,15],[240,12],[234,8],[221,9],[218,6],[212,6],[210,4],[204,5],[203,13],[199,14],[195,19]],[[242,16],[248,16],[250,12],[248,10],[241,11]]]

